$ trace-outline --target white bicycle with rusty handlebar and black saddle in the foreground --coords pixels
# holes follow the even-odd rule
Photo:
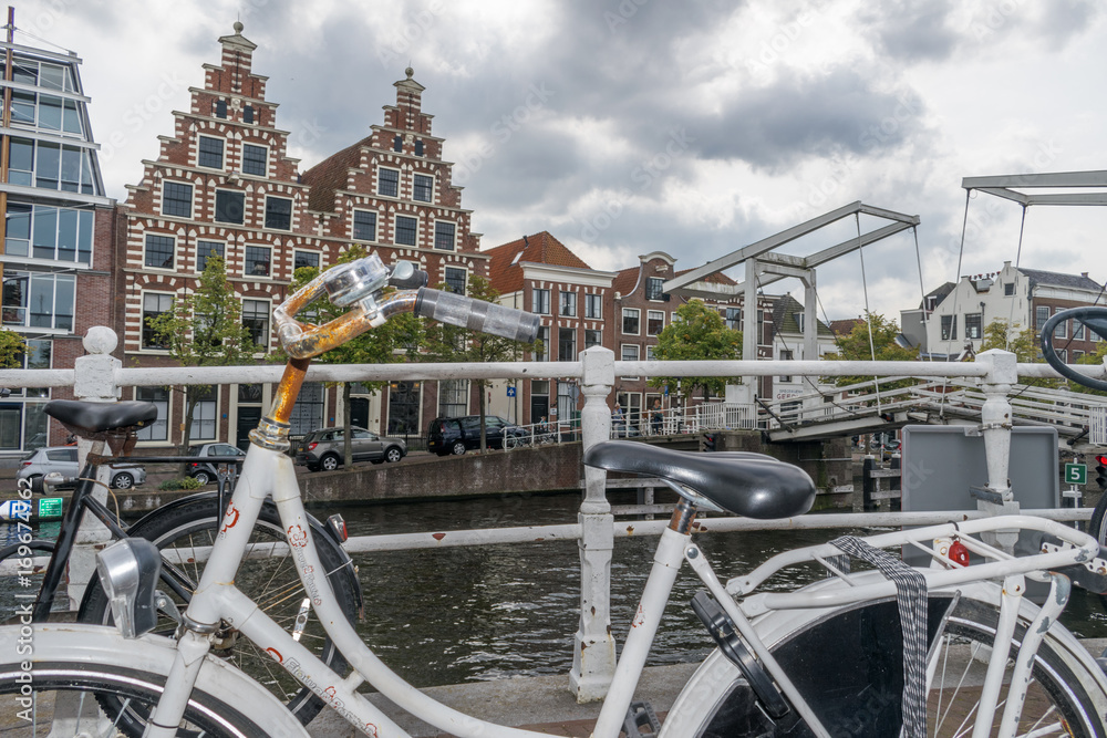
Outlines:
[[[258,644],[374,738],[406,734],[358,693],[363,682],[455,736],[540,735],[433,700],[359,640],[320,575],[323,567],[292,460],[283,453],[309,357],[393,314],[414,311],[517,340],[535,335],[532,315],[416,287],[421,281],[410,267],[393,273],[370,257],[325,272],[277,309],[281,341],[294,358],[270,414],[251,434],[224,527],[187,610],[178,615],[177,637],[146,632],[157,619],[158,558],[134,540],[105,549],[101,578],[116,627],[0,628],[4,736],[308,735],[269,690],[210,653],[220,623]],[[390,282],[403,289],[386,293]],[[297,322],[294,315],[324,292],[350,312],[324,326]],[[692,539],[697,509],[753,518],[803,514],[815,497],[806,474],[757,454],[686,454],[627,440],[592,446],[584,462],[660,477],[681,498],[621,649],[597,738],[617,738],[623,729],[665,738],[1107,735],[1107,678],[1056,622],[1069,578],[1104,589],[1107,562],[1096,558],[1099,547],[1090,537],[1022,516],[951,522],[790,551],[724,584]],[[349,675],[331,671],[234,584],[269,497],[312,607],[353,667]],[[1015,557],[993,544],[994,534],[1012,531],[1036,536],[1037,552]],[[904,565],[900,549],[925,553],[930,565]],[[851,560],[863,562],[863,571],[851,572]],[[704,586],[693,609],[718,648],[685,686],[664,725],[656,726],[651,711],[632,700],[685,562]],[[758,591],[776,572],[813,563],[826,569],[827,579],[794,592]],[[1047,584],[1041,607],[1023,596],[1027,581]]]

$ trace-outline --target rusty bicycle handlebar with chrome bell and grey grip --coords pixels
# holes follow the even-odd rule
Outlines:
[[[402,312],[492,333],[513,341],[532,342],[540,319],[531,313],[474,300],[452,292],[431,290],[426,274],[403,264],[390,270],[376,254],[331,269],[297,290],[273,310],[277,336],[293,358],[309,358],[337,349],[365,331],[384,324]],[[384,294],[386,285],[408,288]],[[417,288],[417,289],[411,289]],[[331,302],[350,310],[323,325],[296,320],[296,314],[324,292]]]

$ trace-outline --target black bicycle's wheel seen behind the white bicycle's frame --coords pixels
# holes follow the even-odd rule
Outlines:
[[[199,581],[207,551],[215,542],[221,524],[223,516],[217,514],[217,507],[215,495],[186,498],[179,505],[162,508],[147,516],[127,532],[132,537],[152,541],[163,552],[163,557],[195,584]],[[321,527],[312,528],[320,560],[327,569],[334,596],[350,621],[354,622],[360,596],[353,563],[333,539],[321,532]],[[297,626],[297,619],[303,615],[307,622],[303,623],[300,643],[311,647],[337,673],[344,674],[346,662],[327,636],[310,606],[296,563],[284,543],[280,516],[272,502],[267,501],[262,507],[250,543],[251,553],[242,560],[235,578],[238,589],[284,630],[291,631]],[[177,605],[180,610],[185,607],[185,603],[179,600]],[[89,584],[77,619],[83,623],[112,622],[111,607],[99,579]],[[155,632],[169,636],[175,630],[176,623],[163,616]],[[301,686],[271,656],[238,631],[224,628],[211,653],[235,664],[265,685],[304,725],[322,709],[323,701],[319,697]]]

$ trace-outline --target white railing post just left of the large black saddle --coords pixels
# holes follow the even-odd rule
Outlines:
[[[583,364],[580,414],[583,450],[611,435],[607,398],[615,380],[614,353],[592,346],[580,355]],[[602,699],[615,672],[615,643],[611,635],[611,553],[614,516],[607,497],[607,474],[584,467],[584,496],[580,522],[580,625],[573,635],[569,689],[578,703]]]

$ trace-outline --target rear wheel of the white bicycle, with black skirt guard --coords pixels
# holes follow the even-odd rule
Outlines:
[[[993,605],[962,597],[938,634],[950,596],[933,595],[929,606],[930,637],[933,642],[937,635],[940,641],[938,673],[928,695],[927,735],[938,738],[971,732],[999,617]],[[1025,622],[1021,622],[1012,640],[1006,679],[1024,632]],[[1089,657],[1079,657],[1079,646],[1070,645],[1075,640],[1069,636],[1068,641],[1051,632],[1038,647],[1015,735],[1107,735],[1104,676],[1095,673],[1098,667]],[[899,736],[903,662],[894,601],[834,611],[769,645],[831,736]],[[997,734],[999,720],[1000,715],[990,735]],[[687,721],[684,727],[682,721]],[[685,686],[665,726],[673,728],[666,736],[697,738],[814,735],[795,710],[776,721],[766,717],[737,668],[717,651]]]

